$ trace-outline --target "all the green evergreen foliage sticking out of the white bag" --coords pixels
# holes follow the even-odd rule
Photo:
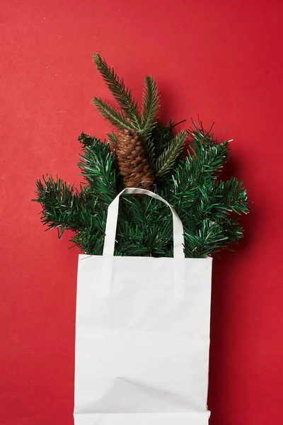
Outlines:
[[[212,128],[206,131],[202,123],[175,132],[172,120],[164,125],[156,117],[159,94],[152,77],[144,80],[140,111],[132,91],[114,69],[98,54],[94,62],[121,111],[100,98],[93,103],[118,130],[141,135],[156,173],[154,191],[173,205],[183,222],[185,255],[202,258],[237,243],[243,236],[238,216],[248,213],[249,203],[241,182],[220,179],[230,153],[229,141],[218,142]],[[124,187],[115,159],[116,133],[109,133],[108,139],[79,136],[83,176],[79,189],[52,176],[36,183],[35,200],[42,205],[43,224],[59,229],[59,236],[65,229],[73,230],[71,242],[87,254],[102,254],[107,208]],[[172,256],[170,210],[152,198],[123,197],[116,239],[115,255]]]

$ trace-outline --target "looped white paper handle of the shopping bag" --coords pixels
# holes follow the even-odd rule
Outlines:
[[[161,196],[157,195],[154,192],[147,191],[146,189],[139,188],[125,188],[119,195],[116,196],[112,203],[110,203],[108,207],[108,215],[106,220],[106,228],[105,228],[105,239],[103,246],[103,256],[113,256],[114,255],[114,247],[115,247],[115,237],[117,230],[117,219],[118,219],[118,210],[119,210],[119,200],[121,195],[125,195],[126,193],[139,193],[141,195],[148,195],[151,198],[156,198],[161,200],[161,202],[165,203],[172,212],[173,215],[173,244],[174,244],[174,258],[175,259],[185,259],[184,254],[184,229],[183,224],[178,216],[177,212],[175,212],[174,208],[167,200],[161,198]]]

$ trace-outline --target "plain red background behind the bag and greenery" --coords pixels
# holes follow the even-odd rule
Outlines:
[[[214,261],[211,425],[282,424],[280,0],[10,0],[1,4],[2,425],[71,425],[79,250],[44,232],[35,179],[79,182],[81,131],[109,126],[100,50],[138,98],[153,74],[161,118],[215,120],[228,172],[254,204],[246,238]]]

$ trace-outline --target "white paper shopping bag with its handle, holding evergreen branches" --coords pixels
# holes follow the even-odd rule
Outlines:
[[[119,199],[173,213],[174,258],[113,256]],[[207,425],[212,259],[185,259],[166,200],[126,188],[108,208],[103,256],[79,255],[75,425]]]

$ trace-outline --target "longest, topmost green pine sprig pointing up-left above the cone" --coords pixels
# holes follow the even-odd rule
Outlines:
[[[93,61],[127,119],[132,122],[134,129],[139,132],[141,130],[139,106],[132,96],[132,89],[127,89],[125,87],[124,80],[117,76],[114,68],[109,67],[98,53],[93,55]]]

